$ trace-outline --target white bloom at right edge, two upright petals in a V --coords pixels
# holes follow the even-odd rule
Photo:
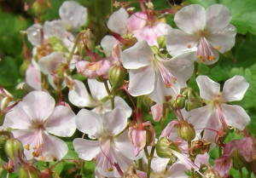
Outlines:
[[[216,131],[226,125],[237,129],[244,129],[250,121],[247,112],[241,106],[227,105],[226,102],[241,100],[245,95],[249,83],[241,76],[234,76],[224,83],[220,92],[219,83],[215,83],[207,76],[199,76],[196,83],[200,89],[201,98],[207,100],[207,106],[202,106],[189,112],[189,123],[195,129],[205,129],[203,138],[214,141]]]

